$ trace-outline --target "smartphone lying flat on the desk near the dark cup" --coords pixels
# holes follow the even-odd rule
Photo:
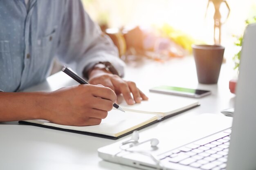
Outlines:
[[[211,91],[200,90],[200,89],[191,89],[183,87],[173,87],[173,86],[157,86],[149,89],[150,92],[164,93],[171,95],[182,95],[187,97],[203,97],[211,94]]]

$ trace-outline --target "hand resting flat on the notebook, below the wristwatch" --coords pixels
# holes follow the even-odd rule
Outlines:
[[[134,82],[125,81],[118,75],[106,71],[105,69],[94,68],[89,73],[90,84],[102,84],[111,88],[117,95],[123,94],[126,103],[129,105],[140,103],[142,100],[148,100],[148,97],[137,88]],[[133,99],[132,99],[132,96]]]

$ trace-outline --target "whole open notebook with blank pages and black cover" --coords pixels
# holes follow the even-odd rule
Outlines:
[[[197,100],[186,97],[155,93],[149,93],[148,96],[148,101],[142,101],[141,104],[134,105],[127,105],[124,99],[119,97],[119,106],[126,112],[122,113],[120,110],[113,108],[108,112],[106,119],[103,119],[101,124],[95,126],[65,126],[45,120],[25,120],[19,121],[19,123],[107,139],[119,139],[130,134],[133,130],[139,130],[162,121],[166,117],[171,117],[199,106]]]

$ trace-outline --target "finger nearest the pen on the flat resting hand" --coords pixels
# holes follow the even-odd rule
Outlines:
[[[134,104],[134,100],[130,94],[131,92],[128,84],[122,79],[112,79],[112,82],[115,86],[115,89],[119,89],[119,91],[123,94],[126,103],[129,105]]]

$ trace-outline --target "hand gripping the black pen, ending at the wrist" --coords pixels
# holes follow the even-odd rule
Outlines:
[[[108,87],[83,84],[49,93],[45,119],[64,125],[88,126],[101,123],[112,110],[117,96]]]

